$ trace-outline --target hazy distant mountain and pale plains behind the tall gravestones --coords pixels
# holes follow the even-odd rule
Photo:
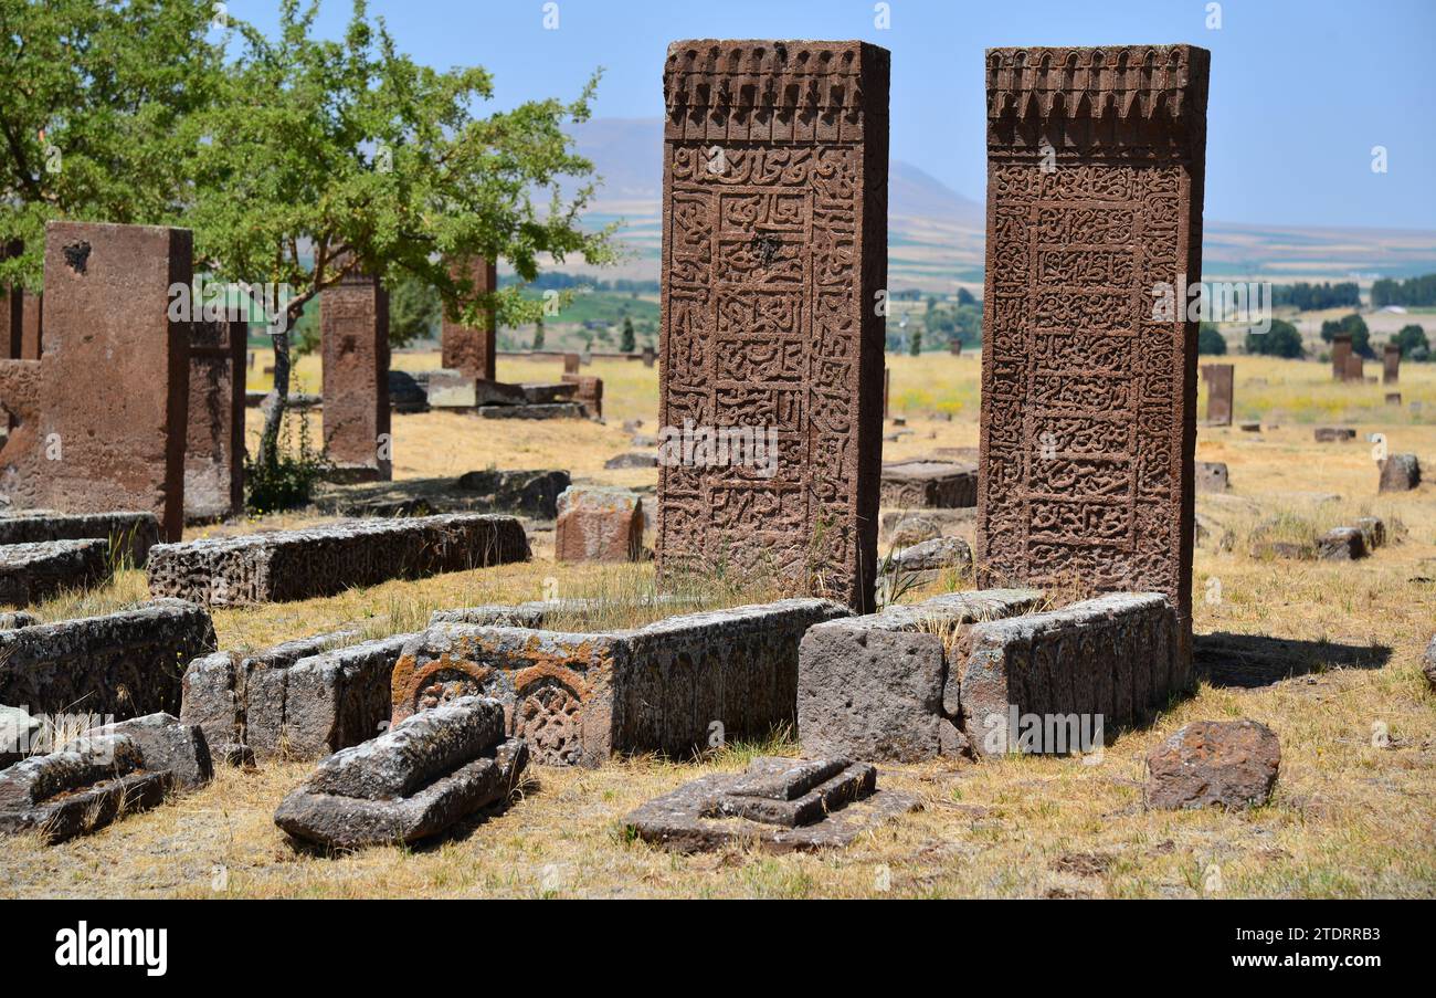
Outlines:
[[[663,123],[658,118],[597,118],[574,128],[579,151],[603,179],[589,220],[622,221],[630,256],[606,277],[653,280],[662,250]],[[922,168],[895,159],[887,177],[887,273],[895,289],[981,293],[984,204]],[[1228,224],[1208,220],[1208,279],[1353,280],[1436,273],[1436,233]],[[563,270],[589,273],[582,264]],[[597,271],[593,271],[599,276]]]

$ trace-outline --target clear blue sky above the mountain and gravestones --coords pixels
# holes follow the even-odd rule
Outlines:
[[[668,43],[849,39],[893,53],[892,157],[981,200],[982,50],[1189,42],[1212,50],[1206,217],[1228,223],[1436,228],[1436,0],[372,0],[399,47],[481,65],[497,108],[577,93],[605,67],[596,115],[656,118]],[[260,26],[276,0],[228,0]],[[325,0],[337,36],[349,0]],[[1371,148],[1387,172],[1371,171]]]

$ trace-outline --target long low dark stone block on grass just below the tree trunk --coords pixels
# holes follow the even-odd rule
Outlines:
[[[238,606],[527,560],[528,538],[513,517],[452,513],[352,520],[158,544],[149,553],[149,592]]]

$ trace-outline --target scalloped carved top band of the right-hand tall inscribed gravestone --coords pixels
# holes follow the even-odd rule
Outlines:
[[[1209,65],[1192,45],[988,49],[988,119],[1200,116]]]

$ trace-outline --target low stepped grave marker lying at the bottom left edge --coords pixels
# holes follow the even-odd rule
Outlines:
[[[210,781],[198,728],[151,714],[92,728],[49,755],[0,771],[0,833],[37,831],[47,844],[89,834],[171,790]]]

